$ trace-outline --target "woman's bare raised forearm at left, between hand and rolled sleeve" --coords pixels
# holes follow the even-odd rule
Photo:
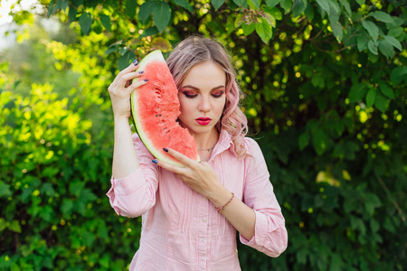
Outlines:
[[[138,166],[128,119],[126,117],[117,118],[114,130],[113,178],[122,179],[137,170]]]

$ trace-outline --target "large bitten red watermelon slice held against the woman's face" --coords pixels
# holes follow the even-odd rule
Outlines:
[[[169,164],[182,166],[163,150],[165,147],[200,161],[194,136],[176,121],[181,113],[178,89],[161,51],[147,54],[138,70],[144,70],[141,79],[148,79],[148,83],[131,94],[131,113],[147,149]]]

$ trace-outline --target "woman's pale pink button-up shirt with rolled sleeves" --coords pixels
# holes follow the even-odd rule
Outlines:
[[[152,163],[153,155],[133,136],[140,167],[111,179],[107,195],[118,215],[142,215],[140,247],[130,270],[241,270],[236,229],[202,195],[174,173]],[[248,155],[238,160],[232,137],[222,131],[208,161],[218,179],[256,214],[255,235],[241,243],[270,257],[287,248],[287,229],[259,145],[245,138]]]

